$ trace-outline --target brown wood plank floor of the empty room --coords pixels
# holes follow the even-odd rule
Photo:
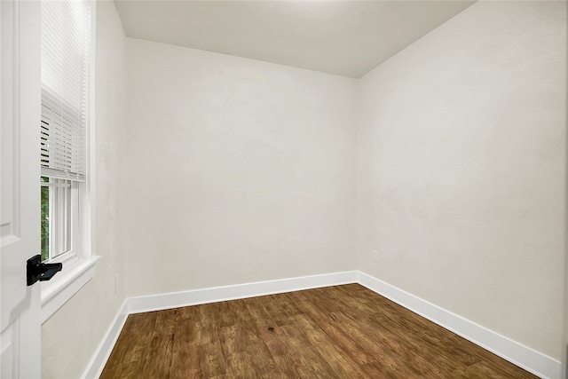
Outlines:
[[[359,284],[130,315],[101,378],[533,378]]]

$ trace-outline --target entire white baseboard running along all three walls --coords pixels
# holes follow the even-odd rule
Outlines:
[[[347,283],[359,283],[377,294],[404,306],[406,309],[454,332],[456,335],[476,343],[485,350],[492,351],[518,367],[523,367],[534,375],[546,379],[562,378],[562,364],[560,361],[552,359],[521,343],[517,343],[506,336],[501,336],[492,330],[446,311],[438,307],[438,305],[422,300],[420,297],[391,286],[364,272],[351,271],[282,280],[267,280],[235,286],[202,288],[162,295],[130,297],[122,304],[122,308],[114,318],[110,328],[108,328],[106,336],[103,338],[97,351],[95,351],[91,363],[83,374],[83,379],[96,379],[102,373],[106,360],[113,351],[114,343],[116,343],[129,314],[273,295],[310,288],[337,286]]]

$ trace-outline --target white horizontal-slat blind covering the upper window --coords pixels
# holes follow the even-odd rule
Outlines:
[[[41,174],[85,179],[91,4],[42,2]]]

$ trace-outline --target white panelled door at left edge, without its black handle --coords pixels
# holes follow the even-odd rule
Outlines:
[[[0,0],[0,378],[41,374],[40,284],[26,284],[40,251],[41,3]]]

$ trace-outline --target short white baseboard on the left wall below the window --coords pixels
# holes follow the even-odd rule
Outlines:
[[[126,299],[124,303],[122,303],[118,313],[116,313],[116,316],[114,316],[110,327],[106,330],[106,334],[93,354],[91,362],[89,362],[87,369],[83,373],[82,379],[96,379],[102,374],[106,360],[108,360],[110,353],[113,351],[114,343],[118,340],[118,336],[121,334],[122,327],[124,327],[128,315],[128,299]]]

